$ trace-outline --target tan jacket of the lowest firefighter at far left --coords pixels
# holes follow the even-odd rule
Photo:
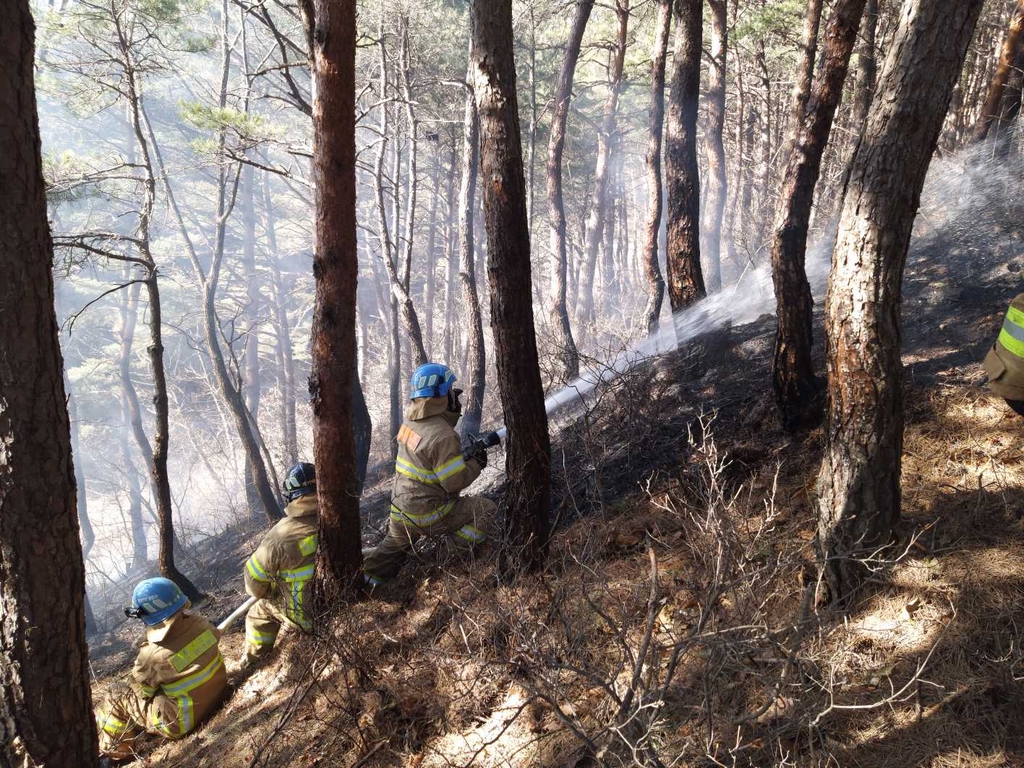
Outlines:
[[[183,736],[221,701],[227,673],[218,640],[220,630],[184,609],[146,630],[131,677],[141,698],[160,705],[148,708],[147,729]]]

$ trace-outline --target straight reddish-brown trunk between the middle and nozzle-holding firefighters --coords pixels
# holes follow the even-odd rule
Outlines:
[[[309,400],[319,501],[321,606],[357,593],[362,579],[353,440],[355,299],[355,2],[313,0],[315,226]]]

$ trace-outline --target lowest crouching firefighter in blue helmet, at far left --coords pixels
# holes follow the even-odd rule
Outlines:
[[[142,732],[180,738],[220,703],[227,673],[220,655],[220,631],[190,613],[191,603],[169,579],[146,579],[135,587],[125,614],[141,618],[145,637],[131,683],[117,683],[96,712],[100,755],[135,757]]]

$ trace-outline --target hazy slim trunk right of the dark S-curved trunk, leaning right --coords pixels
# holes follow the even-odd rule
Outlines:
[[[626,63],[626,38],[630,24],[630,0],[615,0],[615,18],[618,31],[615,47],[611,52],[608,67],[608,95],[604,99],[604,115],[601,130],[597,134],[597,165],[594,169],[594,189],[590,198],[590,213],[587,214],[584,236],[585,252],[583,266],[586,280],[582,287],[583,302],[580,322],[590,325],[594,322],[594,275],[597,273],[597,251],[604,237],[609,218],[609,181],[612,175],[612,151],[615,145],[615,118],[618,113],[618,95],[623,85],[623,67]],[[605,296],[605,301],[608,300]]]

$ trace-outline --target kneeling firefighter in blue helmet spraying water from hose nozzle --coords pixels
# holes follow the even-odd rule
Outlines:
[[[397,574],[422,537],[451,537],[466,550],[486,539],[484,521],[494,513],[495,503],[459,496],[487,465],[487,454],[479,444],[471,455],[463,454],[455,431],[462,416],[462,390],[453,388],[455,381],[452,370],[436,362],[413,373],[413,404],[396,437],[387,536],[364,558],[364,579],[371,587]]]

